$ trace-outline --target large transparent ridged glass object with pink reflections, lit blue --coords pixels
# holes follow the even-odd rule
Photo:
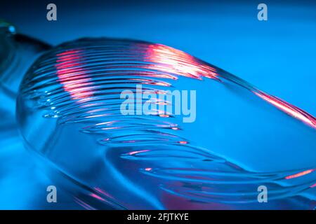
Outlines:
[[[122,116],[120,94],[138,84],[196,90],[197,120]],[[27,146],[52,162],[53,178],[84,189],[74,200],[85,209],[315,207],[315,117],[166,45],[58,45],[27,71],[17,112]]]

